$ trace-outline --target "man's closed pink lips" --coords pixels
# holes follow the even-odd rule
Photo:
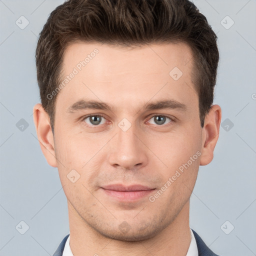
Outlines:
[[[155,188],[140,184],[133,184],[128,186],[122,184],[111,184],[101,188],[107,196],[120,201],[136,201],[147,196],[155,190]]]

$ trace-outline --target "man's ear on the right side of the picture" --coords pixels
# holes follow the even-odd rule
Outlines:
[[[213,159],[213,150],[218,140],[220,120],[220,106],[212,105],[209,113],[204,118],[202,128],[202,154],[200,157],[200,165],[206,165]]]

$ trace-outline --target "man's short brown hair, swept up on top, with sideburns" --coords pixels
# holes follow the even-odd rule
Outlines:
[[[193,53],[192,82],[199,97],[200,124],[213,103],[217,36],[189,0],[67,0],[49,15],[37,42],[35,59],[41,103],[53,131],[63,53],[77,40],[122,46],[185,42]]]

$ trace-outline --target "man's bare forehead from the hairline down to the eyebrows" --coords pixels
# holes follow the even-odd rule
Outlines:
[[[190,101],[197,96],[192,95],[196,93],[191,83],[191,59],[192,52],[185,43],[132,48],[72,43],[63,55],[60,82],[66,83],[63,82],[57,101],[61,101],[62,107],[83,97],[119,106],[161,96]]]

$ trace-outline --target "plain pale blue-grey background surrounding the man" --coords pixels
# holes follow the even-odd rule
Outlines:
[[[256,255],[256,1],[194,2],[218,36],[214,103],[222,107],[223,127],[214,159],[199,168],[190,200],[190,226],[215,253]],[[39,102],[37,36],[60,3],[0,0],[1,256],[52,255],[69,232],[57,169],[44,159],[32,119],[32,107]],[[24,29],[15,24],[21,15],[29,21]],[[231,27],[227,15],[234,21]],[[21,118],[28,125],[23,130]],[[15,228],[20,221],[29,226],[24,234],[19,233],[24,224]]]

